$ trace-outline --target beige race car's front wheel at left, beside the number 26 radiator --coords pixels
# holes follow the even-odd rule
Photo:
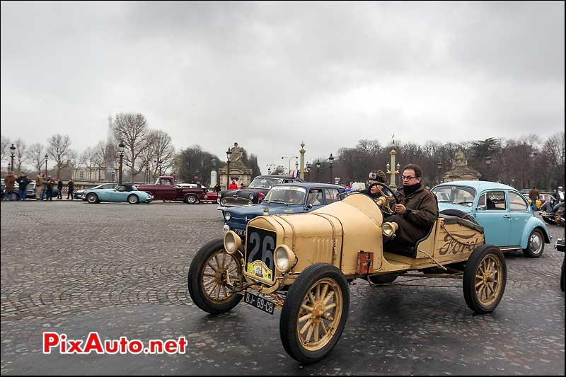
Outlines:
[[[219,255],[222,255],[222,257],[219,257]],[[223,262],[219,262],[220,258],[222,258]],[[231,258],[231,260],[229,260],[229,258]],[[226,262],[229,262],[229,264],[226,265]],[[214,269],[209,265],[210,263],[215,263],[216,267],[219,267],[219,264],[221,264],[223,267],[217,269],[222,270],[222,272],[216,275]],[[229,287],[226,286],[225,274],[228,271],[227,267],[232,265],[236,265],[237,268],[235,269],[235,277],[233,274],[230,274],[231,279],[240,279],[240,281],[242,281],[243,274],[238,258],[232,257],[226,253],[223,238],[212,240],[202,246],[202,248],[197,251],[195,257],[192,258],[187,275],[187,285],[192,302],[202,309],[202,311],[211,314],[226,313],[227,311],[231,311],[234,306],[238,305],[243,298],[241,294],[228,294]],[[207,271],[207,269],[209,270]],[[216,276],[213,277],[211,275]],[[204,279],[207,277],[211,277],[212,279],[208,279],[205,282]],[[218,286],[217,291],[216,286]],[[215,296],[215,292],[216,298],[213,297]],[[220,299],[221,293],[224,293],[223,299]]]

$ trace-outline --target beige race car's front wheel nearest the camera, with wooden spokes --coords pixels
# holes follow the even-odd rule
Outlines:
[[[330,299],[333,303],[328,308]],[[326,263],[306,267],[289,288],[279,318],[279,335],[287,354],[303,364],[323,359],[340,340],[349,310],[350,289],[340,269]]]

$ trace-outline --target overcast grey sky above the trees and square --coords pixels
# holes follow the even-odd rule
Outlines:
[[[564,2],[1,3],[1,134],[82,151],[141,112],[266,163],[564,130]],[[284,166],[288,166],[287,161]]]

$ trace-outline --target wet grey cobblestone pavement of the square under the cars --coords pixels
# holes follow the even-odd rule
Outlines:
[[[2,202],[1,373],[565,373],[564,256],[552,245],[538,259],[507,254],[507,289],[490,315],[473,315],[458,281],[358,279],[337,347],[301,366],[284,352],[278,313],[241,303],[211,316],[190,300],[188,265],[222,224],[213,204]],[[43,331],[189,343],[175,355],[42,354]]]

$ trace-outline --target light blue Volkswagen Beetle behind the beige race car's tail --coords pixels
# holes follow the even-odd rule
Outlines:
[[[461,180],[431,190],[441,214],[460,216],[485,229],[485,243],[502,251],[523,250],[527,257],[543,255],[550,233],[536,218],[529,201],[511,186],[496,182]]]

